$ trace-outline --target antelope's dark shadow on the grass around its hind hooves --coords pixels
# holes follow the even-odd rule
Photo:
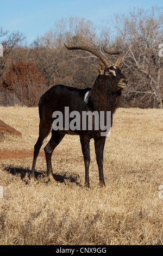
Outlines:
[[[18,168],[18,167],[4,167],[4,171],[8,172],[14,176],[16,175],[20,175],[21,179],[23,181],[26,181],[26,184],[29,184],[29,176],[30,176],[30,170],[27,169],[23,169],[23,168]],[[61,183],[65,183],[67,184],[67,182],[71,182],[71,183],[75,183],[76,185],[79,185],[79,182],[77,181],[79,179],[79,175],[66,175],[66,173],[64,174],[53,174],[55,181],[57,182],[61,182]],[[45,172],[35,172],[35,179],[36,181],[41,181],[43,179],[45,179],[45,183],[47,182],[47,173]]]

